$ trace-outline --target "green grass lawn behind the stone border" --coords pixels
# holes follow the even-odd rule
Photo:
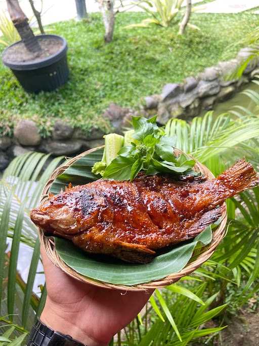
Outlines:
[[[144,13],[116,16],[114,40],[105,45],[103,24],[97,14],[90,22],[61,22],[52,33],[68,41],[70,80],[52,93],[29,95],[10,70],[0,63],[0,134],[17,119],[32,117],[48,135],[55,118],[65,118],[85,131],[104,128],[101,114],[111,102],[134,106],[141,97],[160,93],[168,82],[181,82],[219,60],[234,57],[240,47],[226,48],[259,25],[259,16],[249,12],[233,15],[193,14],[191,23],[177,35],[178,26],[124,29],[146,18]]]

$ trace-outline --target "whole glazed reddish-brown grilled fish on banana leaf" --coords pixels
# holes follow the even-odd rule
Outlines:
[[[211,180],[99,179],[50,196],[30,216],[46,236],[69,239],[83,251],[148,263],[158,249],[196,237],[218,220],[227,198],[258,183],[245,160]]]

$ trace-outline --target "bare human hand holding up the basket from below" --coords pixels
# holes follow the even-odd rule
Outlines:
[[[105,346],[130,323],[153,290],[120,291],[85,284],[65,274],[41,248],[47,300],[41,322],[88,346]]]

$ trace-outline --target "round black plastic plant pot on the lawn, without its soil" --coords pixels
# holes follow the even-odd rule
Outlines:
[[[40,91],[53,91],[68,80],[69,69],[67,65],[67,43],[61,36],[39,35],[38,39],[54,38],[62,42],[62,48],[55,54],[36,62],[12,63],[8,61],[8,50],[21,41],[5,49],[3,63],[10,67],[21,86],[29,93]]]

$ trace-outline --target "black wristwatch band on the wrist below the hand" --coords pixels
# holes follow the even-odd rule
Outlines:
[[[62,334],[37,320],[31,329],[27,346],[87,346],[74,340],[70,335]]]

